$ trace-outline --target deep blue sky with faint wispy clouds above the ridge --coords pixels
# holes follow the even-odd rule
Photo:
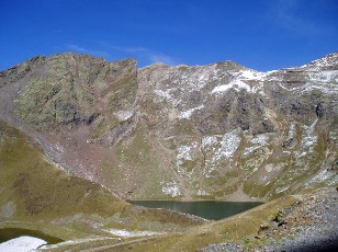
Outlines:
[[[1,70],[72,51],[267,71],[337,50],[337,0],[0,0]]]

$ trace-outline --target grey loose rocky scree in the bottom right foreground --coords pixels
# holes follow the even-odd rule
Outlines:
[[[214,244],[201,251],[337,251],[338,192],[336,188],[296,196],[255,237]]]

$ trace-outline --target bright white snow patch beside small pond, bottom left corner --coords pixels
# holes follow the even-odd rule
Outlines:
[[[12,240],[2,242],[0,251],[5,252],[33,252],[41,245],[47,244],[45,240],[35,237],[18,237]]]

